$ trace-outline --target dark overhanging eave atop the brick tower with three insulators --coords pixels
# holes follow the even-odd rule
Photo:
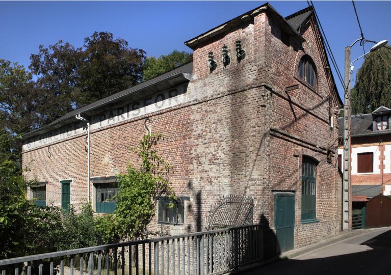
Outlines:
[[[221,25],[218,25],[217,27],[215,27],[215,28],[203,33],[203,34],[200,34],[200,35],[186,41],[185,45],[187,45],[191,49],[195,50],[200,44],[202,44],[202,43],[204,43],[204,42],[206,42],[206,41],[208,41],[208,40],[212,39],[213,37],[216,37],[220,34],[228,32],[234,26],[240,25],[242,22],[248,22],[248,20],[251,20],[256,15],[258,15],[262,12],[266,12],[268,10],[272,11],[275,15],[277,15],[277,17],[286,24],[288,29],[291,30],[291,32],[293,34],[295,34],[296,36],[298,36],[299,38],[304,40],[304,38],[302,38],[302,36],[297,32],[297,30],[295,30],[295,28],[293,28],[293,26],[288,21],[286,21],[285,18],[282,15],[280,15],[273,8],[272,5],[270,5],[269,3],[265,3],[262,6],[259,6],[251,11],[248,11],[248,12],[242,14],[242,15],[239,15],[238,17],[235,17],[225,23],[222,23]]]

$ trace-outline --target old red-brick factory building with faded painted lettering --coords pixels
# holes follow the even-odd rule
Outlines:
[[[112,211],[115,174],[137,162],[129,147],[147,123],[165,136],[158,151],[182,199],[168,212],[162,200],[151,230],[203,230],[214,202],[236,194],[254,199],[253,221],[274,229],[281,250],[340,231],[342,102],[312,10],[284,18],[265,4],[185,44],[193,62],[25,134],[25,176],[40,182],[29,196]],[[89,184],[79,114],[91,123]]]

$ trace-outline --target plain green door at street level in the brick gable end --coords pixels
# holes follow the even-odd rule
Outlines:
[[[274,228],[281,253],[293,249],[295,229],[295,195],[280,193],[274,196]]]

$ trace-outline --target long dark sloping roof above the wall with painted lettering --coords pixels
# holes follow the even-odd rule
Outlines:
[[[165,72],[157,77],[146,80],[137,84],[131,88],[123,90],[121,92],[115,93],[111,96],[99,99],[91,104],[80,107],[71,111],[61,118],[41,127],[34,131],[31,131],[22,136],[23,140],[27,140],[30,137],[43,134],[50,130],[58,129],[64,125],[77,121],[75,116],[77,114],[82,114],[82,116],[91,117],[102,111],[105,111],[108,106],[119,106],[123,105],[124,100],[135,100],[140,98],[140,96],[147,96],[150,93],[155,93],[157,91],[163,91],[174,86],[177,86],[181,83],[187,82],[191,79],[193,73],[193,62],[186,63],[179,67],[176,67],[168,72]],[[137,94],[137,95],[136,95]],[[137,98],[135,98],[138,96]]]

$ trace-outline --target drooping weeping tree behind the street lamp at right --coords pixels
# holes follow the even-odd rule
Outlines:
[[[391,107],[391,47],[369,53],[356,77],[352,114],[371,113],[380,105]]]

